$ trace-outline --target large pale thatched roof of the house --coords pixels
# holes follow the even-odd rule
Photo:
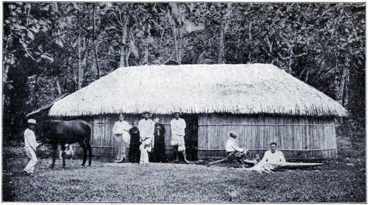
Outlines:
[[[49,115],[143,111],[348,115],[338,102],[268,64],[122,67],[55,102]]]

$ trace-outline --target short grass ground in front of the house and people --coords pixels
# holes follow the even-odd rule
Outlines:
[[[3,172],[3,201],[57,202],[364,202],[365,170],[329,163],[309,170],[256,173],[223,166],[151,163],[109,165],[41,159],[35,176],[19,174],[26,158]],[[11,174],[11,175],[10,175]],[[230,196],[226,191],[234,193]]]

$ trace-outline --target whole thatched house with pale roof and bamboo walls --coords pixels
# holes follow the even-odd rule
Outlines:
[[[274,65],[153,65],[118,68],[60,101],[52,116],[79,116],[92,127],[94,155],[113,151],[118,113],[127,121],[143,111],[159,116],[170,149],[171,114],[187,122],[185,142],[192,158],[225,156],[230,129],[251,155],[276,142],[286,158],[336,158],[335,117],[339,103]],[[197,156],[198,154],[198,156]]]

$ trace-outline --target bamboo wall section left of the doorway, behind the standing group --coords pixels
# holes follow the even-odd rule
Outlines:
[[[164,125],[166,129],[165,134],[165,145],[166,145],[166,154],[171,155],[171,129],[170,129],[170,121],[172,119],[171,116],[167,115],[155,115],[151,119],[154,120],[156,117],[161,119],[161,123]],[[126,115],[124,120],[132,125],[133,121],[141,120],[143,117],[141,115]],[[92,154],[93,156],[113,156],[114,155],[114,136],[112,132],[112,128],[114,123],[119,120],[118,115],[110,114],[110,115],[99,115],[92,116],[88,118],[84,118],[86,122],[91,125],[92,133],[91,133],[91,145],[92,145]],[[76,154],[82,154],[83,151],[79,147],[79,144],[73,145]],[[127,147],[127,151],[129,150],[129,145]]]

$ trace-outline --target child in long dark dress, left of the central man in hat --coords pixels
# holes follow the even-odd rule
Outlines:
[[[130,146],[129,146],[129,161],[132,163],[139,163],[139,158],[141,157],[141,151],[139,150],[139,129],[138,121],[133,122],[133,127],[129,129],[130,134]]]

